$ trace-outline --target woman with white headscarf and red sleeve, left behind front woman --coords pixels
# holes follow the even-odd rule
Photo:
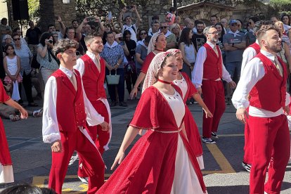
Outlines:
[[[138,93],[138,85],[143,82],[145,79],[146,72],[148,72],[148,67],[150,66],[150,62],[152,62],[153,58],[157,53],[164,51],[166,48],[167,39],[164,36],[164,33],[157,32],[153,34],[153,37],[150,39],[150,43],[148,44],[148,56],[146,56],[143,61],[143,65],[141,66],[141,73],[138,75],[136,79],[136,83],[134,84],[134,88],[131,90],[130,97],[131,99],[136,97]]]

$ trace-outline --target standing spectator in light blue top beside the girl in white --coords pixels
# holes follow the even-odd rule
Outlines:
[[[22,84],[25,89],[25,96],[28,101],[28,106],[38,106],[32,99],[32,80],[30,72],[32,71],[32,52],[26,44],[21,44],[20,36],[13,34],[14,51],[20,58],[20,75],[22,76]],[[19,88],[21,98],[21,87]],[[20,99],[20,103],[22,100]]]

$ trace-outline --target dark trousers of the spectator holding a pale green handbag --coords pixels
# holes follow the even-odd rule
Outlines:
[[[109,75],[109,70],[107,68],[105,70],[105,74]],[[111,71],[111,75],[115,75],[115,70]],[[117,69],[117,75],[120,75],[119,83],[117,85],[109,85],[107,83],[108,93],[109,93],[111,101],[116,102],[116,90],[115,90],[115,88],[117,87],[118,100],[119,100],[119,102],[123,102],[124,101],[124,69],[123,68]],[[106,80],[106,82],[107,82],[107,80]]]

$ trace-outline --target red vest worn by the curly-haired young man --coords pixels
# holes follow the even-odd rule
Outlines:
[[[77,127],[86,127],[86,112],[80,74],[77,70],[77,91],[64,72],[56,70],[51,76],[56,77],[57,98],[56,113],[60,131],[74,133]]]

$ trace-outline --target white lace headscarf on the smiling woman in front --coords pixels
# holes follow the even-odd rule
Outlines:
[[[145,75],[145,81],[143,82],[143,90],[141,91],[141,93],[143,93],[143,91],[145,91],[145,89],[147,89],[149,86],[152,86],[153,84],[155,84],[155,82],[157,82],[157,73],[161,69],[164,59],[169,56],[174,55],[169,52],[161,52],[155,55],[152,62],[150,62],[148,72]]]

